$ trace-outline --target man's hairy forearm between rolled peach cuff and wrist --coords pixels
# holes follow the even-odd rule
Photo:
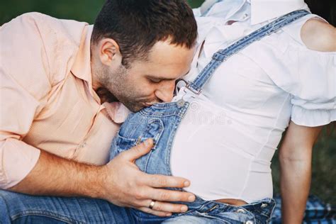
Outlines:
[[[38,163],[9,191],[33,195],[99,197],[101,169],[41,151]]]

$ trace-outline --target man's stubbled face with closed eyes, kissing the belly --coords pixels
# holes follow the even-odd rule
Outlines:
[[[150,50],[147,60],[130,62],[128,69],[121,63],[106,67],[101,85],[130,111],[140,111],[157,102],[169,102],[175,81],[189,72],[193,56],[194,48],[159,41]]]

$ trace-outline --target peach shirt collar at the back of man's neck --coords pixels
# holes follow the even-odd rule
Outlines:
[[[82,35],[81,43],[79,44],[79,50],[72,65],[71,72],[75,77],[83,79],[92,86],[92,74],[91,74],[91,35],[93,26],[85,26]]]

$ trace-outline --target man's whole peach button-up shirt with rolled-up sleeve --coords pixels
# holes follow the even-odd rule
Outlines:
[[[40,150],[106,164],[128,110],[92,88],[92,26],[26,13],[0,27],[0,188],[18,184]]]

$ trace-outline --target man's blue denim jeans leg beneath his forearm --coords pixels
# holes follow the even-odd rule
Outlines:
[[[28,196],[0,190],[0,223],[136,223],[128,208],[92,198]]]

